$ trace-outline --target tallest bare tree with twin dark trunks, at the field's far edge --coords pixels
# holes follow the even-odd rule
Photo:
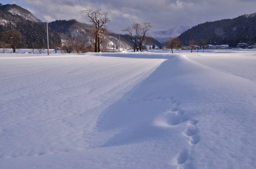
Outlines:
[[[90,29],[92,36],[95,38],[94,41],[94,52],[100,52],[100,44],[104,41],[103,35],[105,34],[109,20],[109,13],[101,13],[101,9],[93,11],[92,9],[81,11],[85,14],[86,20],[93,24]]]

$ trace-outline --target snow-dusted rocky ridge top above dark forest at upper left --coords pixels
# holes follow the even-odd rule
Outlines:
[[[21,16],[24,19],[33,21],[33,22],[41,22],[40,19],[37,19],[31,12],[27,9],[24,9],[16,4],[10,5],[0,5],[0,10],[4,10],[6,12],[10,12],[13,15]]]

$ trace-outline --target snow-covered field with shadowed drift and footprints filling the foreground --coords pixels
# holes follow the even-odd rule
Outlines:
[[[255,168],[255,68],[253,50],[0,54],[0,168]]]

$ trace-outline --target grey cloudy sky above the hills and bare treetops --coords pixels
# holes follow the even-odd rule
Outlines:
[[[1,0],[28,9],[42,21],[76,19],[81,11],[102,9],[110,13],[109,29],[122,33],[132,23],[150,22],[151,31],[174,26],[195,26],[206,21],[235,18],[256,12],[256,0]]]

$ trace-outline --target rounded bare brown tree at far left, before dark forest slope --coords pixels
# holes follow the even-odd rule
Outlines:
[[[18,30],[12,28],[2,33],[2,40],[7,43],[10,48],[13,49],[13,53],[15,53],[16,49],[22,47],[24,36]]]

